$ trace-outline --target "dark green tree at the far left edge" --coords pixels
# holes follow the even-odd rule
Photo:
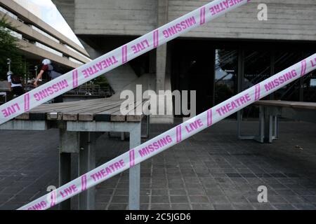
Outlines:
[[[0,19],[0,80],[6,80],[7,59],[11,59],[11,71],[22,76],[25,73],[25,61],[18,51],[18,38],[12,36],[14,28],[7,22],[6,16]]]

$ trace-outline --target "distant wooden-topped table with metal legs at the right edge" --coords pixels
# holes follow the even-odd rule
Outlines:
[[[272,143],[279,138],[279,118],[301,120],[316,123],[316,103],[288,102],[280,100],[261,100],[255,102],[259,106],[259,134],[258,136],[241,136],[239,139],[254,139],[261,143]]]

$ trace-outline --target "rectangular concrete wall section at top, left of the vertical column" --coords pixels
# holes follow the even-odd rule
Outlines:
[[[140,35],[157,26],[157,0],[75,0],[75,34]]]

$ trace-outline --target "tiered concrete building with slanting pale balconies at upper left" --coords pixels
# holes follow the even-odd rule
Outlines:
[[[13,27],[20,51],[29,64],[40,65],[44,58],[51,59],[60,72],[77,68],[91,61],[88,52],[38,16],[40,8],[27,1],[0,0],[0,17]],[[36,15],[35,15],[36,14]],[[34,67],[32,69],[34,73]]]

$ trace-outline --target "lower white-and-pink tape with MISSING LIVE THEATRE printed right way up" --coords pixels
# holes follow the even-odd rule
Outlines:
[[[306,62],[302,63],[302,62]],[[264,80],[263,82],[250,87],[248,90],[237,94],[225,102],[214,106],[212,109],[199,114],[195,118],[187,120],[187,122],[173,127],[171,130],[160,134],[158,137],[151,139],[150,141],[141,144],[140,146],[133,148],[132,150],[120,155],[114,160],[101,165],[100,167],[88,172],[86,176],[85,189],[92,188],[98,183],[101,183],[112,176],[115,176],[126,169],[133,167],[149,158],[152,158],[158,153],[162,153],[166,149],[174,146],[185,139],[192,137],[193,135],[201,132],[211,125],[218,123],[220,120],[227,118],[236,113],[237,111],[244,109],[246,106],[253,104],[259,99],[268,96],[272,92],[279,90],[280,88],[288,85],[289,83],[301,78],[301,71],[303,75],[316,69],[316,54],[308,57],[302,62],[298,62],[293,66],[277,73],[275,76]],[[315,63],[315,64],[314,64]],[[260,86],[260,88],[258,88]],[[258,93],[259,92],[259,93]],[[55,197],[54,204],[63,202],[74,195],[81,193],[83,190],[82,177],[71,181],[70,183],[61,186],[56,190],[57,197]],[[20,209],[24,210],[42,210],[49,209],[51,202],[49,199],[50,194],[40,197],[38,200],[31,202]]]

